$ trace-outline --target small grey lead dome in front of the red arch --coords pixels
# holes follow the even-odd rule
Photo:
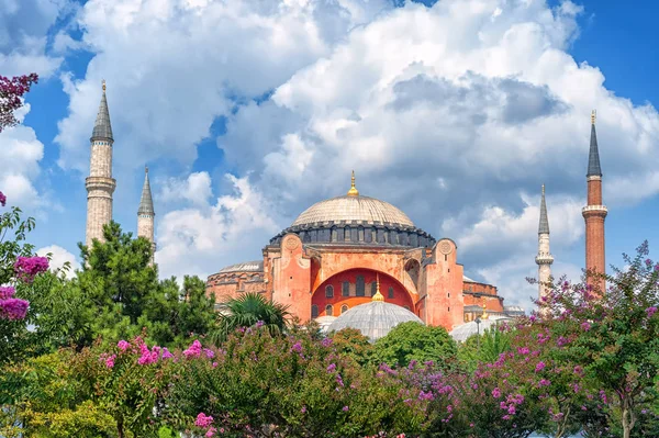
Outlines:
[[[344,328],[356,328],[370,339],[371,342],[387,336],[401,323],[423,321],[409,310],[383,301],[357,305],[338,316],[327,328],[327,332],[338,332]]]

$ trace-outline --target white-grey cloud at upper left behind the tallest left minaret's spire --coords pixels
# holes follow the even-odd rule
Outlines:
[[[108,81],[118,164],[171,156],[190,164],[213,120],[235,100],[269,92],[326,55],[386,0],[92,0],[79,11],[81,43],[96,54],[83,79],[64,75],[69,115],[59,122],[60,165],[87,170],[87,143]],[[71,42],[64,42],[70,45]],[[121,134],[121,135],[120,135]]]

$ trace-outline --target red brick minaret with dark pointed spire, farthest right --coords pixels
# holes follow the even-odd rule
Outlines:
[[[585,220],[585,269],[587,271],[606,272],[604,259],[604,218],[607,210],[602,204],[602,169],[600,168],[600,151],[597,150],[597,135],[595,133],[595,116],[591,114],[591,144],[588,158],[588,205],[581,213]],[[590,283],[590,281],[587,282]],[[601,293],[606,291],[606,281],[602,279],[594,288]]]

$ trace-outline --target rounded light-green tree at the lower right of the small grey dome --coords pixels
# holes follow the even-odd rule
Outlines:
[[[402,323],[376,341],[373,358],[378,363],[406,367],[411,361],[434,361],[450,368],[456,362],[456,342],[444,327],[432,327],[415,322]]]

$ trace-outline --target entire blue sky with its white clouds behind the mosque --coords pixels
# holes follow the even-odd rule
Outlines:
[[[260,257],[355,168],[364,194],[457,240],[469,277],[528,306],[541,183],[555,273],[583,263],[592,108],[607,261],[659,244],[655,2],[276,3],[0,0],[0,74],[42,77],[0,135],[0,190],[37,218],[37,248],[63,260],[85,239],[101,78],[114,218],[135,231],[148,165],[163,277]]]

